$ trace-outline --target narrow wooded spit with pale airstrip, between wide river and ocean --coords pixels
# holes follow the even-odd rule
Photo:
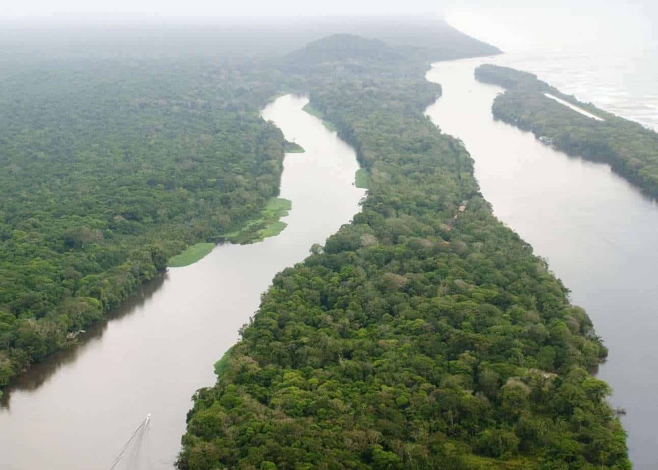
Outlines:
[[[485,64],[476,69],[475,78],[507,89],[493,101],[496,118],[552,139],[557,149],[569,154],[609,163],[615,172],[658,195],[658,133],[594,105],[580,103],[527,72]],[[583,116],[544,93],[605,120]]]

